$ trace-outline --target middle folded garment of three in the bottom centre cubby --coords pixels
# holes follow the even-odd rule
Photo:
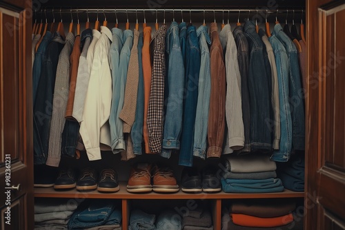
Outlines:
[[[181,230],[182,222],[181,216],[172,210],[167,209],[161,212],[156,221],[157,230]]]

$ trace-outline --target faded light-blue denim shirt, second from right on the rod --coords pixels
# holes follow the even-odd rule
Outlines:
[[[275,54],[275,65],[277,66],[277,79],[279,89],[279,110],[280,110],[280,142],[279,150],[273,152],[271,160],[287,161],[290,158],[292,148],[292,130],[290,104],[288,103],[288,54],[284,45],[277,39],[275,34],[268,38]]]

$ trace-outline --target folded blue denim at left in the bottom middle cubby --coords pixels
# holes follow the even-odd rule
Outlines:
[[[155,230],[156,216],[135,209],[130,213],[130,226],[128,230]]]

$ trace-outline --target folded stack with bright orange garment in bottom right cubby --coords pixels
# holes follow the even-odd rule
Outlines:
[[[222,230],[303,229],[303,221],[295,221],[295,202],[290,200],[242,200],[230,210],[224,208]]]

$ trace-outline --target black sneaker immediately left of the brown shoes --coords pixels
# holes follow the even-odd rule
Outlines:
[[[120,187],[117,182],[117,172],[112,169],[103,169],[99,177],[97,190],[108,192],[119,191]]]

